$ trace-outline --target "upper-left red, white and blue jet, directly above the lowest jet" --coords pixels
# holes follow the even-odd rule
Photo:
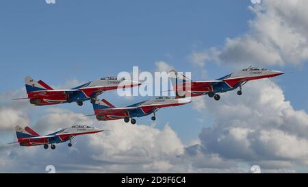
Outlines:
[[[140,82],[125,80],[125,78],[104,77],[72,89],[53,90],[51,86],[48,86],[46,83],[42,82],[42,80],[36,82],[31,77],[25,77],[25,87],[28,97],[21,99],[30,99],[30,103],[34,105],[55,105],[76,102],[81,106],[84,101],[88,100],[94,103],[97,96],[107,90],[131,88],[140,85]]]

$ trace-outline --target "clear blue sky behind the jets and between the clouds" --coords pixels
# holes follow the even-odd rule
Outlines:
[[[153,72],[157,61],[164,61],[178,71],[191,71],[192,79],[196,80],[222,77],[243,66],[209,60],[202,67],[207,72],[203,76],[201,67],[189,57],[194,51],[221,48],[226,38],[249,32],[248,21],[255,18],[248,10],[249,5],[251,1],[227,0],[56,0],[54,5],[44,0],[3,1],[0,6],[0,77],[5,84],[0,92],[23,88],[27,75],[43,79],[47,84],[64,85],[73,79],[88,82],[117,75],[120,71],[131,72],[132,66]],[[286,62],[284,66],[274,64],[266,68],[286,72],[273,81],[282,88],[285,99],[295,110],[307,112],[308,69],[307,60],[303,61],[298,66]],[[145,99],[118,98],[115,94],[105,92],[100,98],[119,106]],[[235,95],[235,92],[225,95]],[[44,107],[48,108],[53,106]],[[75,104],[57,108],[92,114],[90,103],[81,108]],[[30,110],[31,124],[48,113],[42,108]],[[166,108],[157,116],[155,127],[163,129],[168,123],[185,144],[198,138],[201,129],[211,126],[214,120],[210,115],[193,110],[192,105]],[[153,123],[149,117],[138,122]],[[104,127],[104,122],[101,125]],[[11,134],[5,137],[1,142],[12,140]]]

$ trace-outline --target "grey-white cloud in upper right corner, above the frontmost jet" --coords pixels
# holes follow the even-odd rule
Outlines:
[[[249,31],[226,38],[222,48],[212,47],[192,53],[191,61],[203,66],[207,61],[233,65],[302,64],[308,60],[308,1],[263,1],[249,9],[255,18]]]

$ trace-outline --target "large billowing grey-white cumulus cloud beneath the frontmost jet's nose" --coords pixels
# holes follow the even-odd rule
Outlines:
[[[199,157],[211,155],[216,158],[215,167],[226,165],[224,169],[237,162],[260,164],[267,169],[308,164],[308,114],[294,110],[274,82],[249,82],[241,97],[228,92],[219,102],[203,99],[204,111],[213,116],[214,125],[203,128],[200,145],[186,149],[196,163]]]

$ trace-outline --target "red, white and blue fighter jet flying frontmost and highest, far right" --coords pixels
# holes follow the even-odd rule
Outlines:
[[[175,70],[170,71],[170,73],[170,77],[175,77],[176,98],[208,95],[209,97],[214,97],[216,101],[220,99],[218,93],[239,88],[237,93],[238,95],[242,95],[242,86],[248,81],[276,77],[283,74],[281,71],[249,66],[241,71],[231,73],[216,80],[194,82]],[[172,73],[174,74],[172,75]],[[179,83],[179,79],[182,79],[183,82]]]

